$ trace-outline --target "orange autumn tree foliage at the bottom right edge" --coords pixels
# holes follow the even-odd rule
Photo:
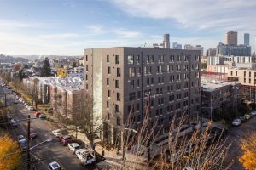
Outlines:
[[[248,133],[247,137],[241,139],[242,155],[239,158],[242,166],[246,169],[256,169],[256,132]]]

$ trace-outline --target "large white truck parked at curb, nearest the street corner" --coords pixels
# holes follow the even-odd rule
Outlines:
[[[75,154],[82,161],[83,165],[88,165],[96,161],[94,151],[91,149],[79,149]]]

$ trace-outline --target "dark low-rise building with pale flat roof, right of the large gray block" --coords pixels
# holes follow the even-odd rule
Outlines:
[[[236,113],[240,101],[240,83],[201,79],[202,116],[219,120],[224,111]]]

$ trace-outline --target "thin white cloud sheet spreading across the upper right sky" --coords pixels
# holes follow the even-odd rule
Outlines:
[[[174,19],[184,28],[211,29],[214,27],[246,30],[256,26],[255,0],[112,0],[125,13],[134,17]],[[219,21],[220,20],[220,21]],[[238,24],[239,23],[239,24]],[[241,28],[242,27],[242,28]]]

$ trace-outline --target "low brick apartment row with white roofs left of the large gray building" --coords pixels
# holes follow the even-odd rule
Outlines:
[[[23,79],[23,83],[28,88],[35,80],[39,103],[49,103],[56,112],[72,118],[73,111],[81,105],[79,99],[84,94],[84,80],[79,77],[30,77]]]

